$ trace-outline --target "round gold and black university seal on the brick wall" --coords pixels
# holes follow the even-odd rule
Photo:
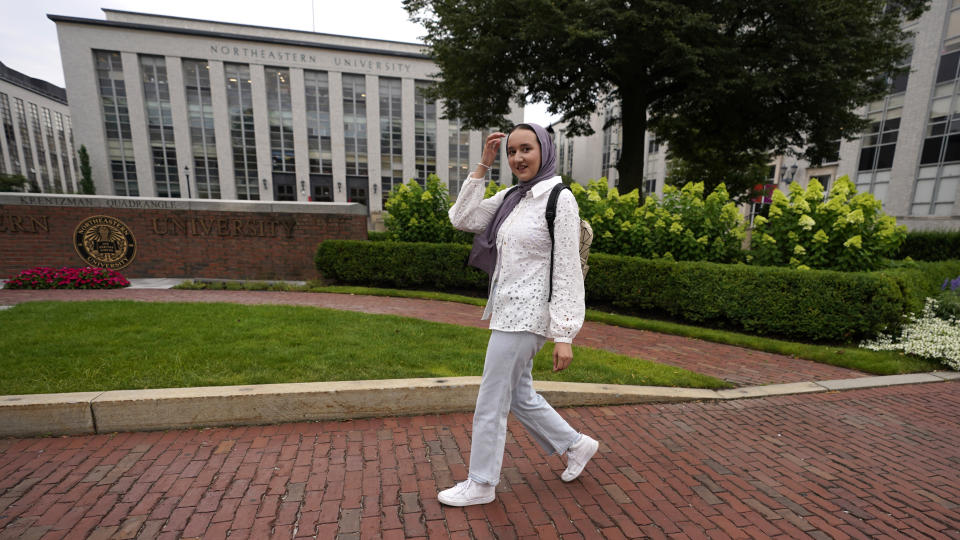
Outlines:
[[[92,216],[80,222],[73,235],[77,254],[90,266],[120,270],[137,255],[130,228],[110,216]]]

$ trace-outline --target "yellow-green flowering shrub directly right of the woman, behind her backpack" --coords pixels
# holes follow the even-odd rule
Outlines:
[[[601,178],[572,184],[580,215],[593,227],[593,249],[616,255],[679,261],[736,262],[743,218],[723,184],[704,197],[702,182],[666,186],[663,199],[639,191],[620,195]]]

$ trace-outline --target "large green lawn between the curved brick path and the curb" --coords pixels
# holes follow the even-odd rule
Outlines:
[[[489,331],[294,306],[29,302],[0,311],[0,395],[480,375]],[[575,347],[538,380],[729,388],[725,381]]]

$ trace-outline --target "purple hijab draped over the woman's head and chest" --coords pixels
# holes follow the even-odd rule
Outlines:
[[[539,124],[517,124],[510,132],[517,129],[533,130],[540,142],[540,170],[537,175],[520,182],[517,189],[511,189],[507,196],[503,198],[500,207],[490,220],[490,224],[483,232],[477,233],[473,237],[473,249],[470,251],[470,258],[467,263],[470,266],[479,268],[493,276],[493,269],[497,267],[497,233],[500,232],[500,226],[506,221],[507,216],[517,207],[520,199],[527,195],[534,185],[553,178],[557,171],[557,151],[553,145],[553,139],[547,130]],[[507,136],[507,144],[510,143],[510,136]]]

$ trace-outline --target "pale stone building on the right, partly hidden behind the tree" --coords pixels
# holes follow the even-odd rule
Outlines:
[[[865,133],[838,141],[835,159],[812,164],[790,156],[770,163],[770,182],[786,191],[817,178],[829,189],[846,175],[861,192],[883,202],[884,210],[910,229],[960,229],[960,0],[933,0],[930,9],[904,28],[914,34],[909,72],[890,82],[883,99],[861,113]],[[617,184],[613,166],[620,149],[617,126],[603,128],[594,115],[594,135],[566,137],[555,124],[561,172],[586,183],[606,177]],[[663,192],[667,148],[646,134],[644,192]]]

